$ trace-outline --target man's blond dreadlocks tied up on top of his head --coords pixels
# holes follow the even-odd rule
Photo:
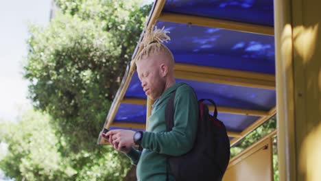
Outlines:
[[[160,53],[165,54],[169,58],[169,63],[174,65],[174,56],[171,53],[171,51],[163,44],[164,42],[167,43],[171,38],[167,36],[167,33],[164,31],[164,27],[162,29],[157,29],[155,27],[154,31],[154,26],[150,29],[146,29],[144,38],[141,41],[141,46],[143,46],[142,51],[139,53],[137,56],[137,61],[157,55]]]

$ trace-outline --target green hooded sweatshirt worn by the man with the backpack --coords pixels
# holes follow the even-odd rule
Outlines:
[[[174,128],[166,132],[165,108],[174,90]],[[167,88],[153,105],[150,123],[141,141],[143,151],[133,148],[127,154],[137,165],[137,179],[166,180],[166,155],[180,156],[189,152],[195,141],[197,120],[198,100],[191,86],[178,83]],[[175,180],[170,173],[169,180]]]

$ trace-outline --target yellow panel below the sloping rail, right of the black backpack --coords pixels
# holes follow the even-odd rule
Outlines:
[[[230,160],[223,181],[273,180],[271,138],[246,149]]]

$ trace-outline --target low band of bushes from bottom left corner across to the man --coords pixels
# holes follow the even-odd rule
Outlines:
[[[112,147],[77,154],[61,152],[67,144],[49,124],[51,118],[27,112],[21,121],[0,125],[0,142],[8,144],[8,154],[0,158],[7,176],[22,180],[122,180],[130,160]]]

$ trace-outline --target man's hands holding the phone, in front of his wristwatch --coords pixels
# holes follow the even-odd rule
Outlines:
[[[110,130],[102,136],[119,152],[128,153],[134,146],[134,133],[132,130]]]

